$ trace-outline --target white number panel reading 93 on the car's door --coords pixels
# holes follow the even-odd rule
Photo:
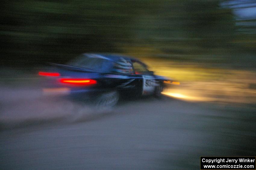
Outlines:
[[[142,76],[142,95],[152,94],[155,90],[155,78],[153,76]]]

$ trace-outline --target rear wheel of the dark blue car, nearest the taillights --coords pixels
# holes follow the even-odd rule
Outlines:
[[[117,91],[110,91],[99,95],[95,101],[97,109],[107,109],[115,106],[119,100]]]

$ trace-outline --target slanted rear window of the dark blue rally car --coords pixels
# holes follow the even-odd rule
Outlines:
[[[82,54],[68,63],[71,66],[83,67],[90,70],[103,70],[108,58],[97,54]]]

